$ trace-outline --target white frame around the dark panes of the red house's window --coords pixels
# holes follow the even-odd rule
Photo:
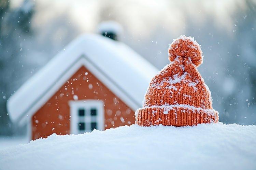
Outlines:
[[[97,115],[95,122],[97,123],[98,130],[104,130],[104,102],[102,100],[72,100],[69,101],[70,106],[70,134],[80,134],[84,132],[91,132],[90,123],[93,122],[91,120],[90,109],[96,108]],[[78,123],[81,122],[82,117],[80,117],[79,109],[85,109],[85,131],[81,132],[79,130]]]

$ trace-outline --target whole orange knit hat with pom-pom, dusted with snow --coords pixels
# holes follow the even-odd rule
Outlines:
[[[192,126],[218,122],[211,92],[197,68],[202,51],[194,38],[181,35],[168,49],[171,61],[152,79],[143,108],[136,111],[141,126]]]

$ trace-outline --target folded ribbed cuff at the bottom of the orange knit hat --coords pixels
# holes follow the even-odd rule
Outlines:
[[[219,119],[218,112],[214,109],[197,108],[186,104],[145,106],[138,109],[135,115],[136,124],[140,126],[193,126],[200,123],[217,123]]]

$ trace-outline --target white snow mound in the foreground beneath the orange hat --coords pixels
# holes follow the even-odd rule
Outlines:
[[[0,169],[256,169],[256,126],[122,126],[0,151]]]

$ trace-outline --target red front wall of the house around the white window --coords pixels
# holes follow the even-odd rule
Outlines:
[[[69,134],[68,102],[87,99],[104,102],[105,129],[134,123],[134,110],[83,65],[31,117],[32,139]]]

